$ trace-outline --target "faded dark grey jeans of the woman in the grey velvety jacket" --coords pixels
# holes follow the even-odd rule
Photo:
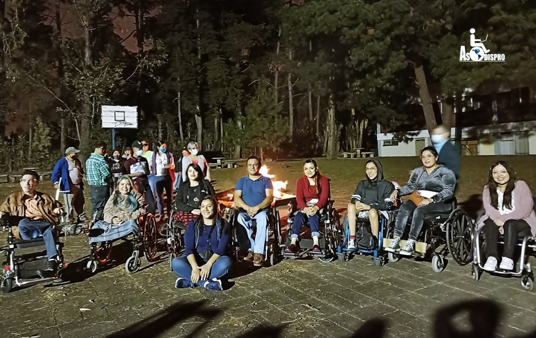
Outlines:
[[[451,205],[443,202],[430,203],[428,205],[417,207],[413,201],[407,201],[402,204],[398,210],[397,221],[394,225],[394,236],[402,237],[404,229],[406,229],[407,221],[410,218],[410,215],[413,215],[408,239],[417,240],[422,225],[425,222],[425,216],[428,212],[449,211],[450,209]]]

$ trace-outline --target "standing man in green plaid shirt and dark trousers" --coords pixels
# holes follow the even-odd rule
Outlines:
[[[98,142],[95,151],[86,161],[87,184],[90,185],[91,215],[97,221],[102,219],[102,212],[110,197],[110,169],[104,155],[106,144]]]

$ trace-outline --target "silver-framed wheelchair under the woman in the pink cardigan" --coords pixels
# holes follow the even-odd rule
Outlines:
[[[534,203],[536,198],[533,197]],[[534,211],[536,211],[536,204],[534,204]],[[482,275],[484,264],[486,263],[485,248],[485,236],[481,229],[475,229],[473,231],[473,264],[471,266],[471,276],[474,281],[479,281]],[[498,244],[504,245],[503,236],[499,236]],[[517,258],[517,264],[515,264],[512,271],[496,269],[493,272],[489,272],[491,275],[501,275],[509,277],[521,277],[520,284],[523,289],[532,291],[534,289],[534,274],[532,273],[531,263],[528,261],[530,256],[536,255],[536,238],[532,234],[524,235],[519,234],[516,249],[519,252]],[[515,260],[516,261],[516,260]],[[517,267],[517,268],[516,268]]]

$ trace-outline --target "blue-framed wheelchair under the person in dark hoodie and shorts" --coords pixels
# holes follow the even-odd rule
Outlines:
[[[345,236],[343,240],[343,244],[341,244],[337,250],[337,254],[343,256],[343,260],[345,262],[349,261],[352,256],[358,254],[358,255],[372,255],[372,260],[375,266],[381,267],[385,264],[386,259],[385,255],[382,253],[383,249],[383,238],[384,234],[387,229],[387,225],[392,223],[394,221],[393,219],[393,212],[385,212],[385,214],[382,211],[378,211],[379,216],[379,225],[378,225],[378,241],[375,248],[372,249],[366,249],[366,248],[359,248],[358,245],[355,249],[348,249],[346,246],[348,244],[348,240],[350,239],[350,229],[348,227],[348,215],[345,215],[343,225],[344,225],[344,231]],[[368,226],[370,227],[370,222],[368,219],[360,219],[357,218],[355,220],[355,229],[359,229],[359,227],[362,226]]]

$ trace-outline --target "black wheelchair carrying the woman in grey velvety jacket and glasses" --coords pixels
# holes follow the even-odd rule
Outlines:
[[[458,208],[456,197],[450,196],[443,200],[443,203],[450,204],[450,211],[430,212],[425,216],[421,233],[417,238],[414,257],[425,258],[428,253],[431,255],[431,267],[436,273],[441,273],[446,267],[446,256],[451,255],[452,259],[461,266],[472,261],[472,230],[473,220],[467,212]],[[391,244],[394,236],[394,224],[396,217],[389,224],[387,236],[384,238],[383,247]],[[412,217],[408,218],[404,235],[406,237],[410,231]],[[401,246],[405,245],[405,240],[401,241]],[[390,262],[397,262],[401,255],[388,253]]]

